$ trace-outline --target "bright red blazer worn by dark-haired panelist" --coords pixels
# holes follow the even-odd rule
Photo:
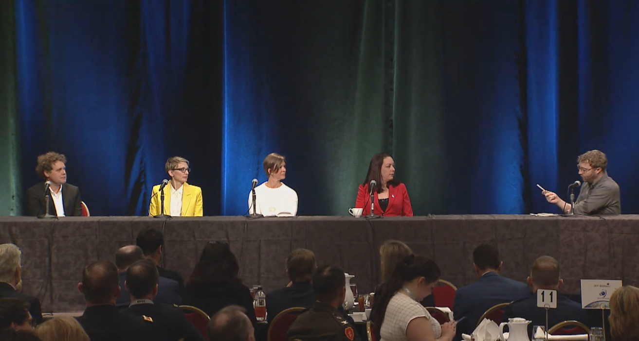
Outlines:
[[[413,216],[413,207],[410,205],[410,198],[408,198],[408,191],[406,191],[404,184],[389,187],[389,206],[384,212],[381,212],[377,192],[375,191],[373,194],[375,196],[375,205],[373,206],[374,214],[389,217],[399,217],[402,215],[406,217]],[[371,214],[371,196],[368,191],[368,184],[359,186],[355,207],[364,208],[362,215]]]

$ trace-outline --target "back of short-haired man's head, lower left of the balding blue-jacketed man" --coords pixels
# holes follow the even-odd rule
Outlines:
[[[80,287],[84,300],[93,304],[111,304],[119,294],[118,268],[112,261],[96,261],[82,272]]]

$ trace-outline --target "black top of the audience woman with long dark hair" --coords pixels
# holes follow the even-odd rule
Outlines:
[[[258,324],[249,288],[239,280],[219,282],[205,287],[189,285],[182,294],[182,304],[200,308],[211,317],[227,305],[239,305],[246,309],[246,315],[253,326]]]

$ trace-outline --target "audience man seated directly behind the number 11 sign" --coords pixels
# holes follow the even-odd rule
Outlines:
[[[557,260],[550,256],[537,258],[534,265],[532,265],[530,277],[528,277],[528,285],[532,287],[534,294],[508,305],[504,309],[504,322],[508,322],[508,319],[513,317],[521,317],[532,321],[528,324],[528,335],[532,334],[533,326],[545,326],[546,309],[537,307],[537,290],[558,290],[563,284],[564,280],[560,278]],[[585,310],[581,309],[581,305],[557,293],[557,308],[548,309],[548,326],[554,326],[557,323],[568,320],[575,320],[588,325],[587,314]]]

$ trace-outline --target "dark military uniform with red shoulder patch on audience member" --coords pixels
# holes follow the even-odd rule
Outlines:
[[[315,302],[310,310],[297,317],[286,338],[289,341],[360,341],[357,331],[342,314],[322,302]]]

